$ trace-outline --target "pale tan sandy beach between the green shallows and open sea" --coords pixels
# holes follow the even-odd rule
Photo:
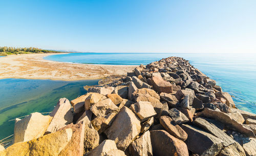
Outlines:
[[[23,54],[0,57],[0,79],[87,80],[110,75],[123,75],[133,65],[75,64],[43,59],[56,54]]]

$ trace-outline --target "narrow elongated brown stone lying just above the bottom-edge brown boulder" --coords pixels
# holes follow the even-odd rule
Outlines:
[[[160,118],[160,124],[164,129],[172,136],[185,141],[187,139],[187,133],[177,124],[173,123],[173,119],[167,116]]]

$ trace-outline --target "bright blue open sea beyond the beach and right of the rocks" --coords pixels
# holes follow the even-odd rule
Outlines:
[[[236,106],[256,114],[256,54],[178,54],[178,53],[70,53],[45,59],[90,64],[148,64],[162,58],[183,57],[217,81],[224,92],[234,96]]]

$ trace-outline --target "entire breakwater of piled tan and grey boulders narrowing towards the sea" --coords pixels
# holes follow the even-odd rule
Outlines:
[[[256,115],[183,58],[141,64],[71,104],[17,119],[0,155],[256,155]]]

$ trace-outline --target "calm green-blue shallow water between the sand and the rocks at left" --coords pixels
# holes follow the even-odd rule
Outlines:
[[[79,95],[86,94],[83,86],[96,84],[98,80],[0,80],[0,140],[13,134],[12,119],[33,112],[51,112],[60,98],[73,100]]]

